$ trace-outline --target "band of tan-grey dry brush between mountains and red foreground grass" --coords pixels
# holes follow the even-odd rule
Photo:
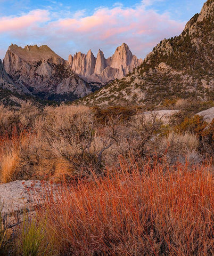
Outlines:
[[[91,170],[104,175],[106,166],[118,167],[120,156],[128,161],[130,155],[137,159],[158,153],[170,164],[186,159],[194,164],[213,155],[213,123],[204,123],[201,130],[187,122],[187,130],[177,134],[155,113],[137,111],[65,105],[39,109],[29,102],[14,110],[1,105],[0,182],[60,181],[65,176],[90,177]]]

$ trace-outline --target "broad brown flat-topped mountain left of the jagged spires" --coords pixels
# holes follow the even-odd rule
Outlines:
[[[75,74],[67,61],[46,45],[22,48],[12,44],[3,63],[15,84],[40,98],[73,100],[92,92],[92,87]]]

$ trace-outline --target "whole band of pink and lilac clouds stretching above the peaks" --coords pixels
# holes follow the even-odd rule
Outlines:
[[[0,36],[21,45],[47,44],[64,58],[89,49],[96,55],[99,48],[109,57],[123,42],[138,57],[145,57],[161,39],[180,34],[185,25],[167,13],[146,9],[152,2],[144,0],[135,7],[100,7],[92,15],[83,10],[70,13],[69,18],[68,12],[59,18],[48,10],[34,10],[20,17],[0,18]]]

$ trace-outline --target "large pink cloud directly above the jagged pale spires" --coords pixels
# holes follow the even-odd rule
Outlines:
[[[172,20],[167,13],[145,10],[143,3],[136,8],[117,6],[97,9],[88,17],[53,23],[57,35],[63,33],[73,36],[78,50],[84,49],[86,45],[87,50],[93,45],[105,50],[109,46],[126,42],[139,57],[149,53],[161,39],[180,34],[185,25],[184,22]],[[53,23],[49,24],[50,28]]]

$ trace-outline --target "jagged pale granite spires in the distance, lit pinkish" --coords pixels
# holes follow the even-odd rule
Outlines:
[[[131,53],[127,44],[123,43],[117,47],[112,57],[105,59],[101,50],[97,57],[91,50],[87,54],[76,53],[73,57],[69,55],[68,62],[72,69],[88,82],[108,82],[116,78],[122,78],[133,71],[142,63]]]

